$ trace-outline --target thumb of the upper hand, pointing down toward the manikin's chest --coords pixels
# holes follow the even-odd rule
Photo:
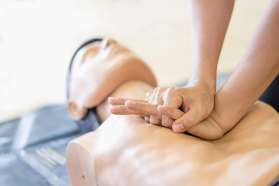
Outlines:
[[[175,133],[184,132],[187,129],[192,128],[194,125],[199,123],[201,120],[202,120],[201,114],[195,109],[190,109],[181,118],[176,119],[173,122],[172,130]]]

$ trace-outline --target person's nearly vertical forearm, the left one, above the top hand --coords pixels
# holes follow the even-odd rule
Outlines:
[[[223,40],[234,7],[234,0],[192,0],[192,74],[216,87],[216,69]],[[215,89],[214,89],[215,93]]]

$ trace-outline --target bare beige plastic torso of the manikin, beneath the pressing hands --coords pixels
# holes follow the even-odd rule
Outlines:
[[[140,116],[111,116],[71,141],[75,185],[268,185],[279,175],[279,115],[257,102],[215,141],[174,134]]]

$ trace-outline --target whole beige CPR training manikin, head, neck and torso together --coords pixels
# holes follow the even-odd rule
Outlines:
[[[150,69],[111,39],[78,52],[69,113],[79,120],[96,107],[103,123],[69,143],[72,185],[268,185],[279,175],[279,115],[263,102],[214,141],[195,136],[218,126],[201,127],[190,136],[139,115],[111,115],[109,96],[144,99],[155,87]]]

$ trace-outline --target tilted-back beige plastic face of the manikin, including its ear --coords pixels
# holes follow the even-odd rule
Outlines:
[[[82,119],[87,109],[96,107],[130,79],[156,86],[156,78],[147,65],[116,41],[105,38],[84,46],[71,67],[68,100],[71,117]]]

